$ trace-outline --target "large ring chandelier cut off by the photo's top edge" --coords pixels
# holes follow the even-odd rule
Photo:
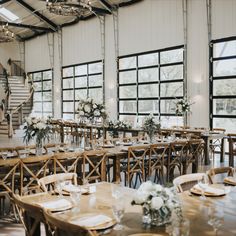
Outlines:
[[[46,0],[49,12],[62,16],[82,16],[92,11],[89,0]]]

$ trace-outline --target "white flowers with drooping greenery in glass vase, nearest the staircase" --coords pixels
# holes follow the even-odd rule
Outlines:
[[[35,138],[37,155],[42,155],[43,141],[46,139],[49,141],[50,134],[52,133],[50,120],[50,117],[25,117],[25,126],[23,128],[25,131],[24,142],[28,144],[32,139]]]

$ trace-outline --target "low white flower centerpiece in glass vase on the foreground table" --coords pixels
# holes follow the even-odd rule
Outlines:
[[[141,184],[131,204],[143,207],[143,223],[146,224],[164,225],[171,221],[173,215],[182,218],[174,188],[165,188],[151,181]]]

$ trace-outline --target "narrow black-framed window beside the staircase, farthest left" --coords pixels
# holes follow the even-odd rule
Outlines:
[[[34,86],[33,111],[35,116],[52,116],[52,70],[31,72]]]

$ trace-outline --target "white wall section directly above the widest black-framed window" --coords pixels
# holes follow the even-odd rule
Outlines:
[[[182,0],[145,0],[119,10],[120,55],[183,44]]]

